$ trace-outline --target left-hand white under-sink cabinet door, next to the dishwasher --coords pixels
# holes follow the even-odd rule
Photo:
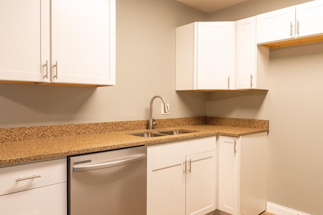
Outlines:
[[[147,214],[185,214],[185,157],[147,166]]]

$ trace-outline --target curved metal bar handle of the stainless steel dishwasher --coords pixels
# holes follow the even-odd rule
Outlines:
[[[96,169],[120,166],[120,165],[129,164],[129,163],[143,160],[146,157],[147,157],[146,154],[142,154],[142,155],[139,155],[136,157],[126,158],[126,159],[118,160],[118,161],[73,167],[73,172],[81,172],[81,171],[87,171],[87,170],[96,170]]]

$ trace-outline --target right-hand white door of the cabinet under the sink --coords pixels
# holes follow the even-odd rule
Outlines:
[[[216,151],[187,156],[186,214],[216,209]]]

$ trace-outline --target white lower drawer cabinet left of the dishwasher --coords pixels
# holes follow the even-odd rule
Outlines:
[[[0,213],[67,214],[66,159],[0,168]]]

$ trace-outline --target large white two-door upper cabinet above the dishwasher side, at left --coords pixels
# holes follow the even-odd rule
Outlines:
[[[0,83],[115,85],[115,0],[0,3]]]

